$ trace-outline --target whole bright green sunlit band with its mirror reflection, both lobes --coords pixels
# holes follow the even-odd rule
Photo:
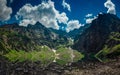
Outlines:
[[[39,46],[39,49],[40,50],[30,52],[10,50],[9,53],[4,56],[11,62],[40,61],[41,64],[45,66],[51,64],[54,60],[60,65],[66,65],[77,62],[84,57],[80,52],[65,47],[59,47],[56,53],[47,46]]]

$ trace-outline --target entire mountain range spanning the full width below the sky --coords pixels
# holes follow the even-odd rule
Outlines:
[[[74,43],[71,43],[71,40]],[[27,27],[18,24],[0,26],[0,51],[39,50],[39,46],[50,48],[72,47],[85,54],[108,56],[120,54],[120,19],[112,14],[99,14],[91,24],[86,24],[69,33],[44,27],[37,22]],[[106,52],[106,53],[105,53]]]

